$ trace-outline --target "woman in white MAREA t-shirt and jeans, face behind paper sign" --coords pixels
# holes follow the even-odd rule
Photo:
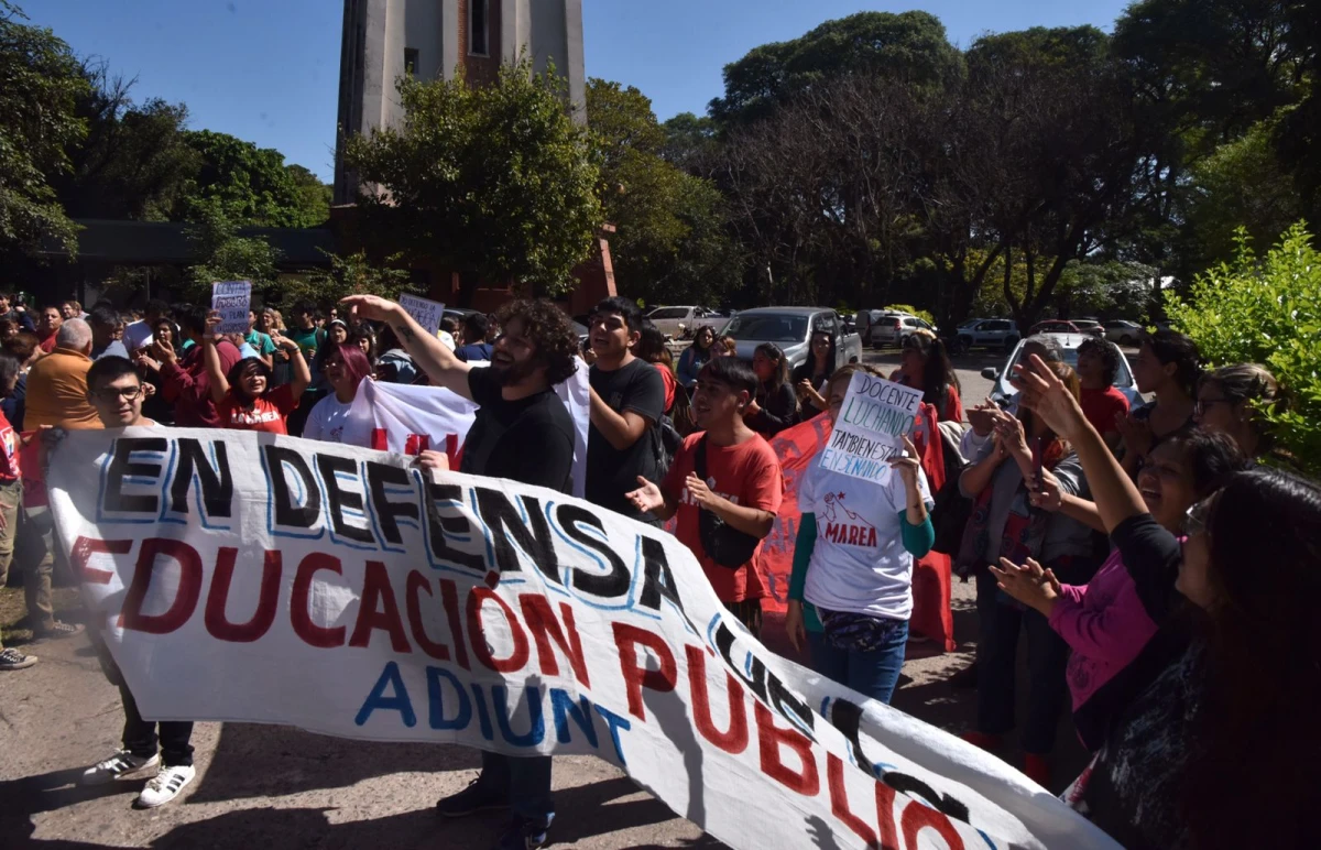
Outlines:
[[[860,364],[836,370],[826,385],[831,422],[857,371],[880,378]],[[819,463],[807,469],[798,489],[802,518],[785,617],[790,642],[801,649],[806,641],[814,670],[884,703],[904,668],[913,559],[935,541],[926,475],[906,436],[904,449],[889,461],[884,483]]]

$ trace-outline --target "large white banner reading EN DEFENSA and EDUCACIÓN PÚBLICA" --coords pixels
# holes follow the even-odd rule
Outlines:
[[[588,753],[736,849],[1110,849],[1000,759],[781,658],[675,538],[269,434],[70,432],[49,473],[149,719]]]

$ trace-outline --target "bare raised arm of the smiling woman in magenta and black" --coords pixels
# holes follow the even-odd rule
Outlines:
[[[1015,386],[1022,390],[1021,403],[1045,419],[1078,452],[1106,533],[1112,533],[1129,517],[1145,514],[1147,505],[1137,485],[1087,422],[1078,399],[1040,357],[1033,354],[1030,361],[1030,367],[1015,366]]]

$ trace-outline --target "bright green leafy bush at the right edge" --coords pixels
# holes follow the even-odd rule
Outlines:
[[[1239,230],[1235,259],[1199,275],[1186,300],[1168,292],[1165,308],[1207,365],[1258,362],[1275,374],[1295,398],[1271,415],[1277,443],[1321,475],[1321,252],[1306,225],[1285,231],[1263,258]]]

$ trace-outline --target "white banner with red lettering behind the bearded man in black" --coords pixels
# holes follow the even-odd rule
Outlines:
[[[473,367],[490,366],[486,361]],[[573,494],[587,488],[587,438],[590,414],[588,366],[577,360],[577,371],[555,385],[555,394],[573,418]],[[343,426],[342,440],[383,452],[417,455],[427,449],[449,455],[450,469],[473,426],[477,405],[444,387],[365,381]]]

